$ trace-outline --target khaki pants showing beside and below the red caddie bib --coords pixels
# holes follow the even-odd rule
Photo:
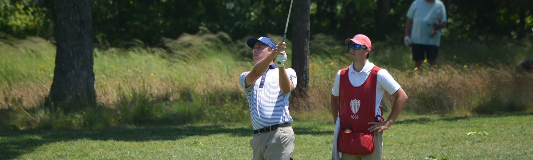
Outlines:
[[[350,155],[342,153],[342,160],[381,160],[383,154],[383,134],[374,131],[374,152],[368,155]]]

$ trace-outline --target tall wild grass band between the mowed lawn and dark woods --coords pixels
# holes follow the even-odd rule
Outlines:
[[[163,42],[165,49],[141,42],[129,49],[95,49],[98,107],[69,114],[42,106],[52,83],[55,47],[35,37],[0,42],[0,129],[249,122],[238,84],[239,75],[254,65],[246,39],[204,31]],[[370,61],[407,92],[406,110],[492,114],[533,108],[533,76],[515,75],[512,66],[532,57],[530,45],[443,45],[438,69],[421,72],[411,67],[408,47],[390,44],[374,42]],[[335,75],[351,62],[345,47],[329,36],[315,35],[310,45],[309,105],[292,105],[296,113],[328,111]],[[390,110],[393,101],[385,94],[383,109]]]

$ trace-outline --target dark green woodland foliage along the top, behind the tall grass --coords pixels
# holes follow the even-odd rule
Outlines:
[[[35,7],[33,1],[0,1],[0,32],[16,37],[53,37],[55,7],[47,1]],[[533,11],[529,1],[449,1],[443,0],[448,25],[443,42],[474,40],[509,41],[531,37]],[[390,1],[386,24],[378,25],[377,1],[311,1],[311,35],[325,34],[349,38],[366,34],[373,40],[392,38],[401,44],[406,13],[413,1]],[[177,39],[207,29],[227,33],[231,39],[267,34],[279,35],[285,29],[290,1],[201,0],[201,1],[93,1],[95,42],[101,47],[131,46],[141,41],[163,46],[165,38]],[[517,8],[518,9],[515,9]],[[386,10],[385,10],[386,11]],[[293,18],[291,18],[293,19]],[[293,38],[289,22],[287,39]],[[161,43],[163,42],[163,43]],[[340,42],[339,42],[340,43]]]

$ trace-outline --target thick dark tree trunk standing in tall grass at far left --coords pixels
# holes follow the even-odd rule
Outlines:
[[[49,101],[66,111],[94,106],[91,0],[57,0],[56,55]]]

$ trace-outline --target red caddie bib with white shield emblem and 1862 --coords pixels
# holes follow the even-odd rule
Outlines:
[[[374,133],[368,128],[368,122],[383,121],[381,114],[376,116],[377,66],[372,68],[366,81],[357,87],[350,83],[349,68],[341,69],[339,86],[339,117],[341,131],[337,139],[337,149],[351,155],[367,155],[374,151]],[[382,113],[383,114],[383,113]],[[346,127],[351,133],[345,133]]]

